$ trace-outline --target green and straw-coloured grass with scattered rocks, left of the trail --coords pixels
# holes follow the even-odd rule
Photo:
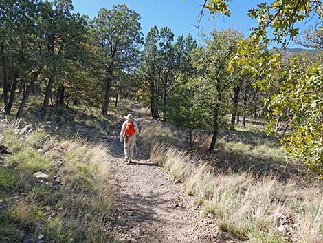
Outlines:
[[[107,148],[41,128],[24,136],[6,131],[1,143],[13,154],[0,167],[0,242],[21,242],[24,234],[42,234],[45,242],[114,242]],[[38,171],[48,177],[34,178]]]

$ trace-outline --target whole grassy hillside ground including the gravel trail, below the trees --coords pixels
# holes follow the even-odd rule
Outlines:
[[[121,104],[120,113],[146,114],[138,104]],[[1,242],[322,240],[320,224],[310,220],[323,220],[320,185],[286,163],[276,140],[256,129],[262,125],[221,134],[214,156],[203,158],[198,140],[202,154],[180,150],[183,132],[144,116],[138,154],[127,165],[122,116],[111,111],[105,124],[94,108],[92,116],[65,112],[60,123],[68,133],[48,122],[2,121]]]

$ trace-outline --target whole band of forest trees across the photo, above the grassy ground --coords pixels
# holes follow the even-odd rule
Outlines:
[[[216,3],[205,8],[228,14],[226,5],[212,8]],[[212,151],[221,129],[234,129],[240,120],[245,126],[247,116],[267,117],[291,156],[322,174],[320,52],[285,58],[268,50],[268,39],[238,30],[175,40],[167,26],[153,26],[143,36],[140,14],[125,5],[102,8],[89,19],[74,13],[71,1],[1,1],[0,18],[1,102],[5,114],[19,103],[16,120],[32,94],[43,96],[38,120],[49,106],[63,111],[88,103],[106,116],[111,98],[115,105],[120,97],[137,99],[154,119],[187,128],[190,141],[194,129],[210,130]],[[283,24],[274,26],[276,39],[296,36]],[[321,50],[322,28],[304,31],[297,41]]]

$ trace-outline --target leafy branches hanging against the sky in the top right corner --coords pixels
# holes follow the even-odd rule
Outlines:
[[[230,16],[229,2],[231,0],[208,0],[203,8],[207,8],[210,14],[216,13]],[[278,41],[278,43],[287,44],[290,39],[298,35],[298,28],[295,24],[298,22],[309,21],[313,15],[322,19],[322,4],[317,1],[264,1],[252,7],[248,11],[249,17],[258,19],[258,27],[253,28],[255,38],[263,38],[266,42],[269,40]],[[322,22],[319,21],[318,28],[322,28]],[[267,36],[267,28],[271,28],[273,38]]]

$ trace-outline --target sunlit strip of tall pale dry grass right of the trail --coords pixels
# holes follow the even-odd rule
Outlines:
[[[273,174],[220,171],[187,152],[156,145],[151,159],[183,182],[188,194],[210,213],[219,229],[249,242],[323,242],[323,191],[318,184],[300,186]],[[306,184],[306,183],[302,183]]]

